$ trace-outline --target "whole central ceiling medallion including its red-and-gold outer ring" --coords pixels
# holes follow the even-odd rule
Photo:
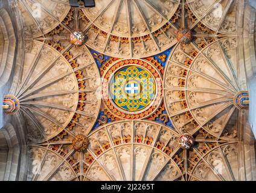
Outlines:
[[[103,75],[103,101],[110,112],[124,119],[152,114],[162,100],[162,78],[144,60],[119,60]]]

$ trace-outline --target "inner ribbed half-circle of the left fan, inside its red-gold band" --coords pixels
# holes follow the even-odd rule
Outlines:
[[[36,53],[37,50],[41,51],[40,54]],[[24,63],[25,86],[21,89],[21,97],[27,97],[27,101],[24,102],[22,108],[25,109],[25,116],[29,117],[31,111],[35,113],[31,123],[37,124],[37,129],[41,127],[39,130],[44,130],[43,134],[51,138],[68,124],[73,115],[72,111],[77,105],[78,93],[67,93],[63,98],[54,96],[47,98],[44,93],[48,93],[49,90],[52,90],[52,92],[60,92],[60,90],[76,92],[75,76],[74,74],[70,75],[72,68],[66,63],[65,59],[58,56],[57,52],[49,46],[39,42],[27,42],[25,51],[26,55],[30,55],[30,57],[25,57],[26,61]],[[37,58],[37,63],[33,63],[33,58],[34,60]],[[34,71],[35,67],[37,71]],[[52,81],[60,75],[63,78]],[[25,80],[25,77],[29,77],[29,79]],[[33,94],[37,95],[36,100],[30,101],[34,98]],[[63,108],[55,109],[54,106],[50,106],[50,103],[63,106]],[[33,104],[31,109],[28,107],[29,104]],[[27,110],[27,108],[30,110]],[[40,126],[36,119],[40,122]]]

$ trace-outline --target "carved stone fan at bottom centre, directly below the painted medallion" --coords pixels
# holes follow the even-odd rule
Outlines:
[[[135,133],[133,134],[132,125],[134,127]],[[173,131],[169,130],[168,128],[164,128],[161,130],[161,127],[159,127],[158,124],[153,122],[134,122],[132,124],[131,121],[122,121],[119,123],[109,124],[106,125],[107,133],[109,134],[109,138],[112,142],[110,144],[114,144],[114,147],[110,147],[115,152],[117,152],[117,156],[114,156],[112,159],[112,156],[109,155],[112,150],[109,150],[106,152],[107,159],[104,159],[104,150],[103,153],[100,153],[98,157],[103,157],[104,161],[107,163],[107,160],[109,161],[109,168],[113,168],[113,164],[115,164],[114,159],[119,159],[119,163],[121,164],[118,167],[123,168],[124,170],[124,177],[126,179],[133,179],[131,176],[132,173],[130,169],[132,169],[134,172],[134,178],[139,179],[146,179],[146,180],[152,180],[153,178],[156,178],[154,175],[156,172],[159,172],[159,168],[161,168],[162,165],[165,164],[165,162],[170,159],[168,158],[167,154],[161,153],[158,149],[152,149],[153,143],[156,144],[154,141],[158,141],[158,144],[162,143],[162,140],[166,138],[167,141],[173,141],[174,139],[171,137],[173,135],[176,135],[173,133]],[[161,130],[161,133],[159,133]],[[96,133],[99,133],[102,135],[102,130],[100,128],[95,131]],[[166,134],[168,132],[168,134]],[[159,134],[158,134],[159,133]],[[95,134],[91,134],[92,136],[95,136]],[[163,137],[162,137],[163,135]],[[134,139],[131,138],[131,136],[134,136]],[[104,137],[105,138],[105,137]],[[158,139],[157,139],[158,138]],[[154,140],[155,139],[155,140]],[[132,142],[134,140],[134,142]],[[161,140],[161,142],[159,141]],[[99,144],[102,144],[97,140],[97,145],[94,145],[94,149],[97,150],[99,147]],[[101,147],[106,148],[106,144],[109,141],[104,141],[105,143],[101,145]],[[135,160],[132,161],[131,151],[132,146],[130,144],[134,143],[134,157]],[[126,145],[125,145],[126,144]],[[140,145],[141,144],[141,145]],[[142,145],[145,144],[145,145]],[[92,150],[93,148],[91,148]],[[160,148],[161,149],[161,148]],[[95,151],[94,150],[94,151]],[[150,153],[151,152],[151,153]],[[95,152],[96,153],[96,152]],[[102,156],[101,156],[102,154]],[[150,157],[149,157],[150,156]],[[100,158],[99,158],[100,159]],[[134,163],[135,162],[135,163]],[[144,171],[143,165],[145,165],[148,162],[149,167]],[[156,163],[156,164],[152,164]],[[94,162],[92,163],[94,164]],[[117,169],[116,167],[115,169]],[[115,180],[119,179],[121,176],[121,173],[119,170],[115,171],[113,169],[108,170],[111,174],[113,174]],[[119,168],[118,168],[119,169]],[[177,169],[178,171],[178,169]],[[119,173],[119,174],[118,174]],[[88,171],[88,175],[90,175]],[[91,178],[91,176],[88,176],[88,178]],[[112,179],[114,180],[114,179]]]

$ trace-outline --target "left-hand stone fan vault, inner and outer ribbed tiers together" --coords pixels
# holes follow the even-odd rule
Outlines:
[[[25,42],[22,79],[14,95],[30,142],[46,141],[59,133],[88,134],[92,129],[100,109],[100,74],[86,46],[78,49],[76,60],[72,66],[51,46]]]

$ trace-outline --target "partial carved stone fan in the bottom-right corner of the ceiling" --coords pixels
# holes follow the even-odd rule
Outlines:
[[[188,153],[188,180],[238,180],[238,147],[236,142],[226,144],[200,144]],[[211,148],[209,148],[211,146]],[[203,150],[203,151],[200,151]]]

